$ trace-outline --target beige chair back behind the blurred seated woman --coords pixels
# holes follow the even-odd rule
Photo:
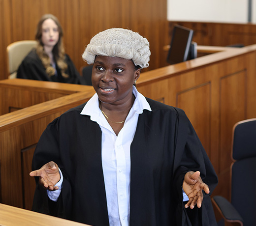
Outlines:
[[[7,46],[7,63],[9,79],[15,79],[22,60],[36,46],[35,40],[22,40]]]

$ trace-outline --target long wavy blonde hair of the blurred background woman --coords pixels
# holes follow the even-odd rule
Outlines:
[[[67,64],[65,62],[65,50],[64,50],[64,45],[62,41],[63,29],[58,18],[52,14],[44,14],[37,24],[36,34],[35,34],[35,40],[37,41],[36,54],[41,59],[48,76],[50,77],[55,75],[56,69],[51,65],[50,57],[44,52],[44,48],[43,48],[44,44],[42,42],[42,24],[47,19],[52,19],[55,22],[55,24],[58,26],[59,40],[57,44],[53,47],[52,53],[53,53],[54,59],[56,60],[56,64],[61,69],[62,76],[64,78],[68,78],[69,76],[65,73],[67,69]]]

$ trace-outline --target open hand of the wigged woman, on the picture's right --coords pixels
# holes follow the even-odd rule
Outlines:
[[[209,187],[202,181],[199,171],[187,172],[184,177],[182,188],[189,197],[189,201],[185,205],[185,208],[190,207],[193,209],[195,205],[200,208],[203,200],[202,190],[204,190],[206,194],[210,193]]]

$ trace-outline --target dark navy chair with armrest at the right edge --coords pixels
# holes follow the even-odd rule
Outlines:
[[[241,226],[256,226],[256,118],[233,127],[231,203],[215,196],[213,203],[224,220]]]

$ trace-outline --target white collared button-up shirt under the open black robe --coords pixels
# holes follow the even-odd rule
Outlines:
[[[129,225],[130,200],[130,144],[137,127],[139,114],[151,111],[146,98],[133,86],[135,101],[118,136],[101,113],[95,94],[85,105],[81,114],[91,116],[102,131],[102,168],[107,197],[110,226]]]

